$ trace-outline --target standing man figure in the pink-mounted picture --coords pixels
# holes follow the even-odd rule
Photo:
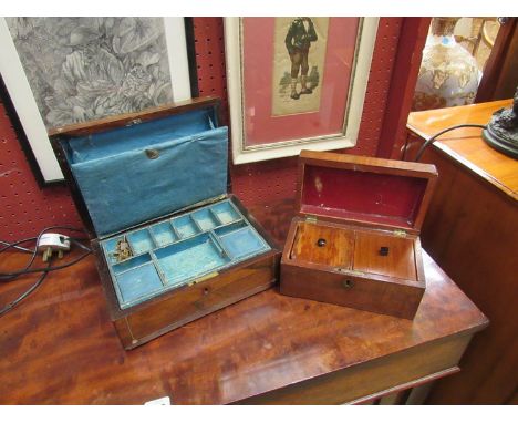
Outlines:
[[[296,18],[291,22],[284,43],[291,60],[291,99],[299,100],[300,94],[311,94],[312,90],[307,86],[308,81],[308,53],[311,42],[317,41],[313,22],[310,18]],[[302,90],[297,92],[297,80],[299,78]]]

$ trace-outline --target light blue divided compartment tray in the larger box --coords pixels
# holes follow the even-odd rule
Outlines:
[[[131,257],[117,258],[123,241]],[[230,199],[101,241],[121,309],[271,249]]]

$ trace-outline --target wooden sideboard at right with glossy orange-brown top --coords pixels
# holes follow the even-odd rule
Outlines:
[[[446,127],[486,124],[510,100],[414,112],[406,158]],[[506,404],[518,386],[518,161],[489,147],[479,128],[442,135],[422,158],[439,177],[422,230],[426,251],[489,318],[460,361],[437,382],[431,404]]]

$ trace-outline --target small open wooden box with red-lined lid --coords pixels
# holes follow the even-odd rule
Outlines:
[[[433,165],[302,152],[280,292],[413,319]]]

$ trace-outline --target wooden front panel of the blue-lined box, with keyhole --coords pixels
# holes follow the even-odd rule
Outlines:
[[[134,348],[172,329],[269,288],[279,255],[269,255],[210,279],[185,287],[115,321],[125,348]]]

